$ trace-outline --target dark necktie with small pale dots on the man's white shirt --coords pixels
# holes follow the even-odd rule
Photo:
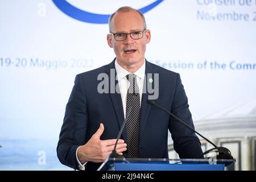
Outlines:
[[[131,107],[133,95],[135,94],[133,107],[126,121],[127,135],[127,156],[130,158],[139,158],[139,119],[141,118],[141,104],[139,99],[139,87],[136,81],[136,75],[126,75],[130,82],[127,90],[126,115]]]

